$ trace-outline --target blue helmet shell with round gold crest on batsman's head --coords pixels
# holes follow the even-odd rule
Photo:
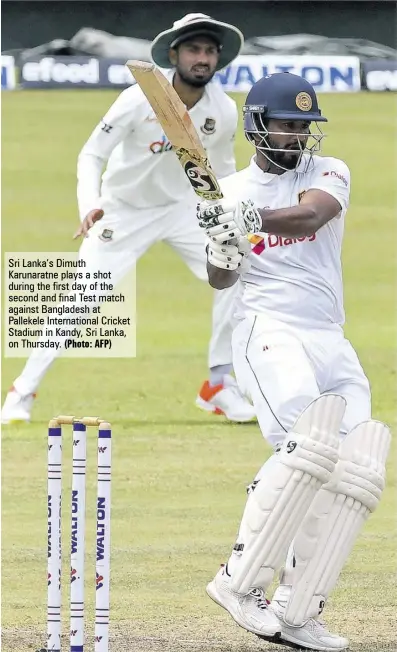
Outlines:
[[[257,81],[247,95],[243,112],[244,117],[261,113],[262,119],[268,120],[328,122],[318,108],[313,86],[289,72],[277,72]]]

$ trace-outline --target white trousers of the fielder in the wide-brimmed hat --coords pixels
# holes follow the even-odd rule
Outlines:
[[[87,263],[85,270],[80,271],[101,269],[105,257],[107,269],[111,265],[112,279],[117,284],[151,245],[163,241],[175,249],[197,278],[208,281],[205,236],[198,226],[194,201],[139,210],[115,198],[102,197],[101,204],[104,216],[90,229],[89,237],[84,239],[79,251],[79,257]],[[101,239],[105,229],[111,232],[111,237]],[[158,272],[164,275],[167,270],[159,267]],[[215,291],[208,352],[210,368],[232,364],[231,338],[236,323],[233,314],[237,293],[237,285]],[[79,303],[76,301],[76,305]],[[62,345],[65,340],[66,337],[57,338]],[[62,348],[58,351],[34,350],[21,375],[14,381],[15,389],[22,395],[35,392],[61,351]]]

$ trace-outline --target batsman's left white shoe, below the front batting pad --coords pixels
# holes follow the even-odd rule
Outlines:
[[[207,586],[207,593],[221,607],[229,612],[240,627],[253,634],[273,637],[280,634],[279,619],[269,609],[262,589],[252,589],[247,595],[235,593],[230,588],[230,575],[227,566],[222,566],[212,582]]]

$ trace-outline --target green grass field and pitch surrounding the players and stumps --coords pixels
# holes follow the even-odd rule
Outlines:
[[[75,249],[71,236],[78,224],[76,156],[115,95],[75,90],[3,93],[4,251]],[[372,383],[374,417],[395,430],[395,96],[340,94],[322,95],[320,100],[330,119],[324,151],[345,159],[352,171],[343,255],[346,332]],[[240,133],[240,168],[251,153]],[[205,594],[206,583],[234,541],[245,486],[269,448],[256,425],[229,425],[194,406],[207,373],[210,288],[163,245],[139,262],[137,278],[137,358],[58,360],[40,387],[34,423],[3,428],[5,652],[35,650],[45,643],[46,426],[59,412],[100,413],[114,427],[112,652],[272,649],[238,628]],[[3,361],[3,396],[22,363]],[[89,641],[94,449],[92,436]],[[395,452],[394,445],[382,504],[365,527],[325,614],[331,628],[351,638],[353,652],[397,649]],[[67,578],[69,494],[64,513]],[[65,649],[67,584],[65,580]]]

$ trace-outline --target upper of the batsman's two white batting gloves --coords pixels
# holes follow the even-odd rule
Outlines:
[[[201,228],[214,242],[224,242],[249,233],[260,233],[262,218],[253,201],[230,203],[221,199],[216,203],[200,202],[197,218]]]

